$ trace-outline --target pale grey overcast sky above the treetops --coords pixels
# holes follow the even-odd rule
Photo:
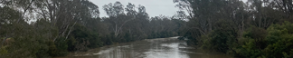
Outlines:
[[[134,5],[144,5],[147,9],[147,14],[150,17],[158,16],[160,14],[166,16],[173,16],[177,10],[173,0],[90,0],[92,3],[99,6],[100,17],[107,16],[105,11],[103,10],[103,5],[108,5],[109,3],[115,3],[119,1],[122,5],[126,6],[128,3],[132,3]],[[243,0],[246,2],[247,0]]]

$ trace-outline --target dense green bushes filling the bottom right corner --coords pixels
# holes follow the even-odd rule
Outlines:
[[[244,34],[249,40],[239,48],[241,56],[250,58],[291,58],[293,46],[293,24],[272,24],[267,32],[260,28],[250,30]],[[263,33],[268,33],[263,35]]]

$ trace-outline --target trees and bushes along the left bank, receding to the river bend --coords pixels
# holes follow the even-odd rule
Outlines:
[[[1,0],[0,58],[47,58],[104,45],[178,35],[185,21],[149,17],[143,5],[89,0]],[[34,21],[33,21],[34,20]],[[33,22],[31,22],[33,21]]]

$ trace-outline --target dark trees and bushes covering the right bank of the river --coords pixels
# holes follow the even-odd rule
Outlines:
[[[189,19],[183,37],[206,52],[292,58],[292,0],[174,0]]]

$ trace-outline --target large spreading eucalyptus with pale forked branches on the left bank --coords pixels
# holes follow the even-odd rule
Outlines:
[[[52,34],[53,41],[58,37],[68,38],[75,24],[87,25],[91,18],[99,17],[99,7],[88,0],[40,0],[35,7],[37,14],[59,30],[58,34]]]

